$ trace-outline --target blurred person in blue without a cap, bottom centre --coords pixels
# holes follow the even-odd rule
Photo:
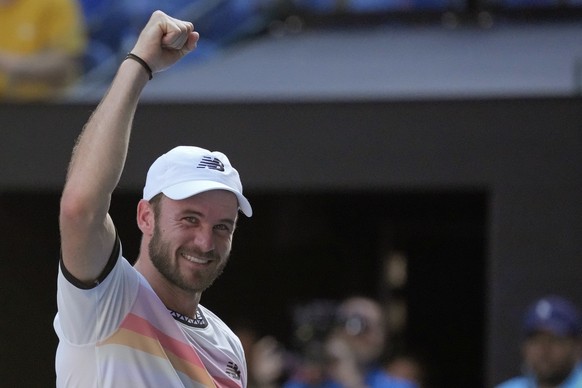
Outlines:
[[[339,305],[335,322],[323,344],[323,373],[307,374],[312,377],[308,380],[300,370],[285,388],[415,387],[408,380],[390,376],[379,364],[388,338],[379,303],[364,297],[348,298]]]

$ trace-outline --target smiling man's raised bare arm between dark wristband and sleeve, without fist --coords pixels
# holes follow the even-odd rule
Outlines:
[[[133,116],[147,80],[139,64],[123,62],[73,151],[61,197],[61,252],[68,271],[87,284],[101,274],[113,248],[111,194],[123,170]]]

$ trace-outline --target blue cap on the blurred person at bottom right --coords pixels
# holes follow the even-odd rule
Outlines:
[[[549,331],[559,336],[582,334],[582,318],[576,306],[560,296],[547,296],[533,303],[525,314],[526,335]]]

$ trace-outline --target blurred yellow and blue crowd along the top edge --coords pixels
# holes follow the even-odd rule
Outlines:
[[[484,1],[517,7],[581,3]],[[188,62],[263,32],[296,32],[303,22],[297,15],[462,12],[466,6],[466,0],[0,0],[0,101],[52,100],[81,78],[108,83],[156,9],[192,21],[200,32]]]

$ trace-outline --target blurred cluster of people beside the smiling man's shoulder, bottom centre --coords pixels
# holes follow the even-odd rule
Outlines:
[[[293,310],[284,345],[250,325],[236,327],[249,370],[249,388],[420,388],[424,361],[395,351],[385,306],[364,296],[314,300]]]

